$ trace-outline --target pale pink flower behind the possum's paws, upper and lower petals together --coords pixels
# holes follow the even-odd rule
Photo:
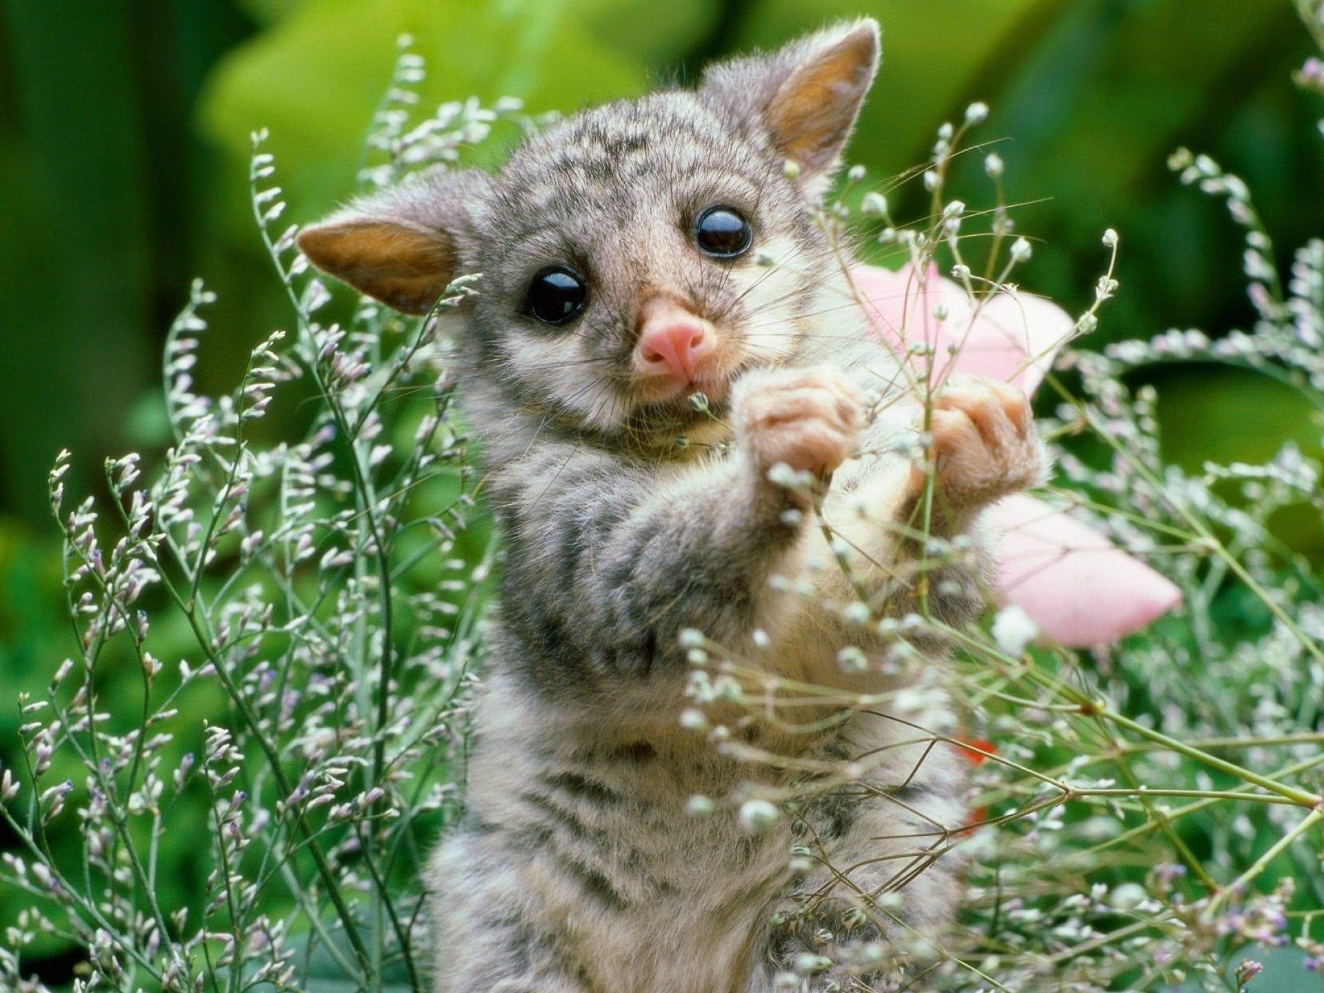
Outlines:
[[[1071,334],[1070,315],[1046,299],[1000,293],[981,303],[929,269],[854,266],[874,334],[912,356],[919,376],[939,385],[951,372],[1014,383],[1034,393]],[[933,311],[947,310],[937,320]],[[1033,496],[1017,494],[985,511],[998,564],[997,592],[1050,638],[1087,647],[1131,634],[1181,602],[1181,592],[1092,527]]]

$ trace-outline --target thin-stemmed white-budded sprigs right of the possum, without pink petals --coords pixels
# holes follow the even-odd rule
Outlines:
[[[1005,167],[996,155],[985,160],[996,197],[992,209],[972,211],[944,196],[961,139],[985,115],[972,107],[963,124],[944,126],[928,167],[911,173],[923,177],[928,193],[924,217],[902,222],[888,203],[892,188],[859,199],[866,225],[880,225],[878,241],[899,254],[908,271],[952,273],[965,297],[961,306],[974,315],[970,326],[981,308],[1018,294],[1009,278],[1033,254],[1030,241],[1013,241],[1016,228],[1001,193]],[[1262,967],[1254,959],[1238,960],[1238,951],[1286,944],[1292,915],[1303,922],[1298,939],[1307,952],[1303,964],[1317,969],[1320,943],[1309,927],[1317,928],[1319,914],[1294,907],[1324,900],[1317,863],[1324,809],[1321,584],[1309,563],[1275,538],[1270,519],[1291,506],[1324,510],[1320,466],[1286,444],[1263,463],[1206,465],[1201,474],[1182,473],[1162,457],[1156,391],[1131,391],[1125,383],[1128,373],[1147,365],[1215,361],[1284,383],[1324,409],[1319,357],[1324,246],[1319,241],[1304,246],[1291,277],[1280,279],[1272,242],[1245,183],[1190,152],[1178,151],[1172,164],[1182,181],[1223,197],[1245,229],[1245,277],[1259,320],[1250,332],[1221,338],[1170,331],[1103,352],[1067,347],[1055,364],[1079,383],[1068,388],[1066,377],[1049,375],[1059,402],[1042,428],[1053,438],[1092,438],[1107,453],[1103,465],[1061,453],[1064,479],[1053,494],[1169,576],[1185,600],[1180,614],[1141,638],[1100,646],[1086,658],[1045,639],[1019,608],[993,612],[976,633],[943,625],[923,596],[915,613],[888,617],[851,575],[849,545],[825,524],[834,560],[820,568],[842,569],[854,591],[854,598],[835,608],[843,621],[871,629],[871,639],[880,636],[888,645],[880,661],[850,646],[838,661],[847,671],[882,665],[908,674],[899,681],[907,688],[862,695],[797,683],[771,675],[772,667],[760,662],[767,639],[720,645],[702,632],[685,636],[694,669],[692,707],[682,724],[751,768],[748,782],[731,796],[695,797],[692,816],[730,805],[747,830],[761,833],[785,818],[804,825],[796,814],[808,798],[862,788],[886,793],[903,785],[879,786],[871,779],[886,768],[884,755],[805,761],[745,744],[740,731],[749,724],[773,731],[767,740],[775,741],[779,735],[820,732],[850,714],[886,714],[906,731],[896,747],[922,745],[924,756],[955,748],[977,765],[970,802],[982,812],[978,826],[932,824],[925,837],[916,838],[914,862],[898,869],[882,891],[858,895],[862,920],[896,935],[891,947],[861,961],[843,953],[835,963],[818,955],[790,963],[782,977],[788,989],[830,967],[874,973],[879,955],[892,963],[900,986],[924,976],[941,989],[970,993],[1047,984],[1168,989],[1184,981],[1207,990],[1253,989]],[[846,191],[863,179],[862,169],[851,169]],[[842,246],[843,266],[859,226],[846,203],[843,193],[821,218]],[[973,228],[980,220],[985,230]],[[1055,347],[1071,346],[1095,328],[1102,305],[1117,289],[1112,273],[1119,241],[1115,232],[1104,234],[1110,263],[1094,303]],[[989,257],[968,258],[969,245],[989,246]],[[857,287],[855,295],[870,312],[867,294]],[[945,298],[935,306],[925,277],[911,279],[904,306],[892,305],[875,315],[875,326],[888,316],[896,324],[898,334],[887,335],[884,323],[884,336],[904,343],[903,331],[912,324],[907,308],[929,307],[932,312],[914,320],[937,327],[936,338],[944,340],[943,322],[952,312]],[[911,363],[908,385],[925,405],[940,381],[935,371],[945,368],[945,356],[933,352],[931,340],[912,342],[904,355]],[[1026,354],[1030,364],[1041,357]],[[923,441],[922,429],[922,451]],[[813,495],[808,481],[794,474],[781,483]],[[920,591],[927,576],[968,553],[957,542],[935,539],[927,514],[906,527],[876,524],[892,527],[898,540],[924,551],[908,567],[914,575],[900,577]],[[773,583],[792,594],[818,596],[812,584]],[[1238,625],[1229,618],[1229,602],[1262,620]],[[965,731],[920,723],[935,687],[915,645],[935,641],[957,646],[956,681],[945,688],[965,710]],[[981,745],[969,744],[972,730]],[[798,779],[769,786],[768,777],[753,775],[760,765],[794,771]],[[967,928],[944,947],[916,947],[904,929],[896,929],[896,902],[924,865],[956,849],[978,853]],[[804,833],[789,859],[830,865],[828,849]],[[1155,865],[1166,869],[1147,871]],[[851,871],[831,866],[831,878],[849,880]],[[1295,890],[1282,882],[1292,875],[1303,880]],[[1279,880],[1276,887],[1272,880]],[[1267,896],[1256,891],[1266,884],[1272,890]],[[805,923],[812,920],[814,899],[808,894],[794,911]],[[782,916],[780,923],[788,920]],[[1229,957],[1237,964],[1225,967]]]

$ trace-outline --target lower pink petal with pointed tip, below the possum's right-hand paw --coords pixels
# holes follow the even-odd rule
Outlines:
[[[1022,494],[984,512],[1000,596],[1070,647],[1116,641],[1181,602],[1181,591],[1079,520]]]

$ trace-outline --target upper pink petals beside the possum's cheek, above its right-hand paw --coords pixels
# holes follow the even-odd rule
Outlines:
[[[923,279],[908,265],[896,271],[857,265],[850,275],[875,335],[898,351],[916,342],[929,346],[935,381],[948,371],[977,373],[1030,395],[1075,326],[1064,310],[1041,297],[998,293],[974,302],[933,267]],[[945,320],[933,318],[940,303]]]

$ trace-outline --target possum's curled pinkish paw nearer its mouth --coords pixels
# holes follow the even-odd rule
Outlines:
[[[859,395],[831,369],[749,373],[732,406],[736,437],[760,474],[785,463],[826,475],[850,458],[863,422]]]

